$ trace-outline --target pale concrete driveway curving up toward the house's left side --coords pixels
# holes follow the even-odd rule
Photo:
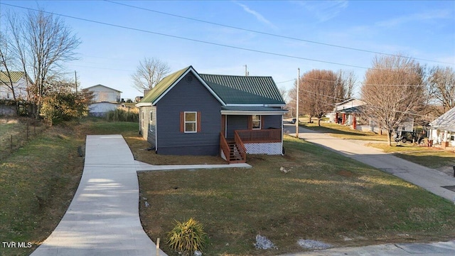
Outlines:
[[[139,220],[136,164],[123,137],[87,136],[85,152],[73,201],[31,255],[156,255],[156,245]]]

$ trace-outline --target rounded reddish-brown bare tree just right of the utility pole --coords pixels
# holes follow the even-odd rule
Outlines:
[[[309,114],[310,122],[311,117],[317,117],[321,126],[321,117],[333,110],[333,103],[343,100],[345,89],[331,70],[311,70],[299,79],[299,112]],[[290,94],[296,102],[296,83]]]

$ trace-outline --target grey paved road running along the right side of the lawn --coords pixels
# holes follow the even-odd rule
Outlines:
[[[295,124],[284,125],[285,133],[295,136],[295,131]],[[384,153],[380,149],[350,142],[348,139],[338,139],[302,127],[299,127],[299,138],[386,171],[443,198],[449,200],[455,198],[454,191],[442,188],[442,186],[455,186],[455,178],[435,169],[400,159],[393,154]]]

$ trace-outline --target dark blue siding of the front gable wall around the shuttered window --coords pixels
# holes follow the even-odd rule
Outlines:
[[[187,79],[191,76],[192,79]],[[191,82],[190,82],[191,80]],[[157,153],[213,155],[220,151],[220,107],[204,85],[188,73],[156,103]],[[200,132],[180,132],[180,113],[200,112]]]

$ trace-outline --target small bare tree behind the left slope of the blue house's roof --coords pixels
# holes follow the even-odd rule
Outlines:
[[[139,92],[151,90],[170,70],[168,64],[158,58],[144,58],[132,74],[133,87]]]

